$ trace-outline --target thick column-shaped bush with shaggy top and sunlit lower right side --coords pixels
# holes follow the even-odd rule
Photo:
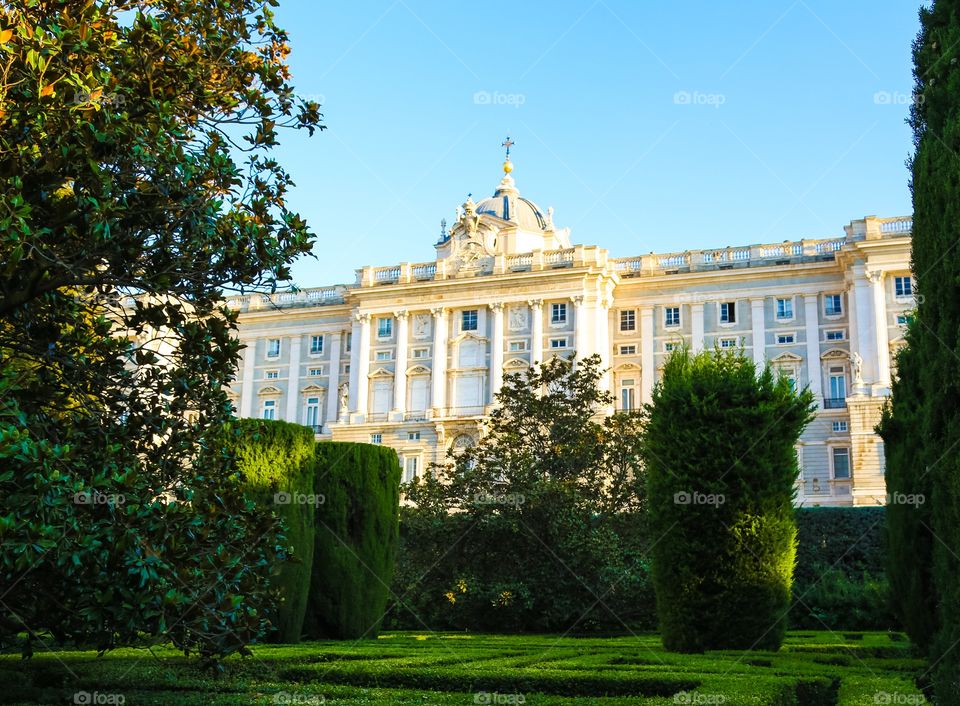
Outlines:
[[[794,446],[812,405],[738,354],[668,358],[644,445],[667,649],[779,648],[796,553]]]

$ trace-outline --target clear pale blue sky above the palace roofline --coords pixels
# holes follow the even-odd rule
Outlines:
[[[317,234],[301,287],[435,258],[440,219],[521,195],[614,257],[842,235],[910,213],[916,0],[281,0],[283,133]]]

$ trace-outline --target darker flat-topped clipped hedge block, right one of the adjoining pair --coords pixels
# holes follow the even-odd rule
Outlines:
[[[400,464],[373,444],[316,446],[313,581],[304,632],[311,638],[376,637],[396,562]]]

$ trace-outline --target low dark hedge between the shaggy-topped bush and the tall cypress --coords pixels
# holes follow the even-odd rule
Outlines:
[[[790,626],[889,630],[885,509],[797,510],[797,568]]]

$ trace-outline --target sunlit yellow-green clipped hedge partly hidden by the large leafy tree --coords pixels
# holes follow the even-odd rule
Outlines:
[[[282,603],[271,615],[277,642],[299,642],[313,568],[317,504],[313,431],[298,424],[242,419],[226,429],[247,496],[283,520],[288,549],[276,581]]]

